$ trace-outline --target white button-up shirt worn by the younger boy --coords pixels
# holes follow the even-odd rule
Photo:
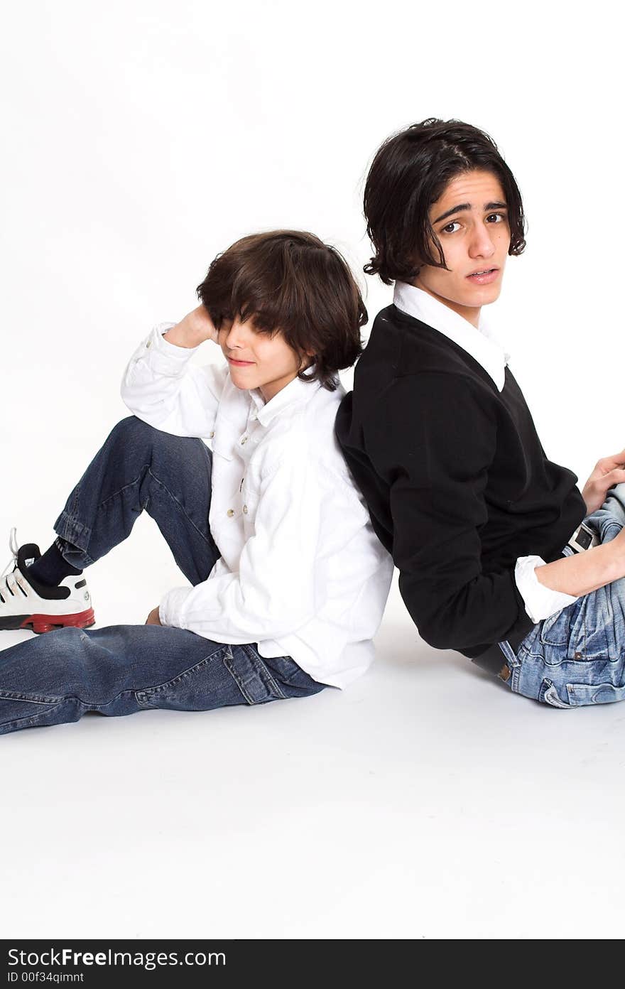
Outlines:
[[[189,363],[198,349],[155,326],[124,374],[122,398],[144,422],[211,440],[209,523],[222,554],[208,580],[174,587],[164,625],[216,642],[291,656],[343,687],[373,660],[393,562],[334,438],[345,392],[296,378],[270,402],[237,389],[227,365]]]

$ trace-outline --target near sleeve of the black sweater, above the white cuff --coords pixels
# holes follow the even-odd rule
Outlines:
[[[495,453],[488,396],[461,376],[396,379],[365,427],[372,462],[389,485],[393,558],[421,637],[461,652],[529,631],[514,569],[484,573],[481,528]]]

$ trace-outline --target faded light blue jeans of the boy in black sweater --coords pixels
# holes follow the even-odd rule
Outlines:
[[[608,492],[585,519],[607,543],[625,524],[625,485]],[[625,579],[584,594],[538,622],[516,653],[499,643],[515,693],[579,707],[625,700]]]

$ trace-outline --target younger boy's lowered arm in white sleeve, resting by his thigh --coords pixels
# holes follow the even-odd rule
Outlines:
[[[241,644],[279,638],[313,618],[321,486],[332,483],[306,450],[285,452],[261,482],[238,572],[173,588],[161,601],[161,623]]]

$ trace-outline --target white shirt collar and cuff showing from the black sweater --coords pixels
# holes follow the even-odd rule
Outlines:
[[[480,313],[478,326],[474,326],[463,316],[455,313],[444,303],[434,299],[428,292],[414,285],[397,282],[393,298],[394,304],[402,313],[414,316],[426,325],[437,329],[448,339],[481,364],[491,376],[497,391],[505,384],[505,365],[510,355],[497,340],[491,325]],[[539,556],[519,557],[514,568],[514,580],[525,603],[525,610],[533,622],[549,618],[551,615],[577,601],[577,597],[564,591],[552,590],[541,584],[536,577],[536,567],[544,567],[545,561]]]

